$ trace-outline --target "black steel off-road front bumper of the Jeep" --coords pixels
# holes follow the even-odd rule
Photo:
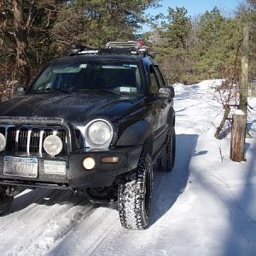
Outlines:
[[[131,172],[131,170],[137,168],[141,151],[142,146],[138,146],[132,148],[115,148],[109,151],[76,152],[55,158],[37,157],[38,177],[5,175],[3,173],[4,156],[22,157],[22,155],[0,154],[0,185],[26,188],[48,187],[55,189],[111,186],[117,176],[125,172]],[[82,165],[86,157],[91,157],[96,162],[96,166],[92,170],[85,170]],[[119,161],[117,163],[102,163],[102,157],[118,157]],[[46,174],[44,172],[45,160],[64,161],[66,163],[66,174]]]

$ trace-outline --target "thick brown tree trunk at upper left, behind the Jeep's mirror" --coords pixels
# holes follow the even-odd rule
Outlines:
[[[22,0],[13,0],[15,41],[17,47],[16,66],[19,84],[28,85],[31,76],[29,61],[27,58],[27,27],[24,21]]]

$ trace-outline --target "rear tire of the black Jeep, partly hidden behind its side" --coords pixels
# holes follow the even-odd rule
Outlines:
[[[157,158],[157,163],[161,171],[172,172],[176,154],[176,134],[174,127],[172,128],[171,135],[168,137],[166,148],[162,151]]]

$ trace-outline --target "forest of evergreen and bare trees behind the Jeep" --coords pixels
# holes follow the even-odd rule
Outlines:
[[[169,84],[239,81],[242,27],[250,28],[249,79],[256,78],[256,0],[229,16],[218,8],[191,17],[187,9],[146,15],[159,0],[0,0],[0,100],[29,84],[51,59],[79,44],[143,38],[157,52]],[[151,30],[138,34],[143,24]]]

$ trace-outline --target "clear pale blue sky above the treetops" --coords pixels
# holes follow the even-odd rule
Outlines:
[[[236,7],[242,3],[242,0],[162,0],[162,7],[158,9],[148,9],[148,14],[157,15],[162,13],[167,15],[168,7],[184,7],[188,10],[190,16],[204,14],[205,11],[213,9],[215,6],[222,11],[224,15],[232,15]],[[143,26],[143,31],[148,31],[148,26]]]

